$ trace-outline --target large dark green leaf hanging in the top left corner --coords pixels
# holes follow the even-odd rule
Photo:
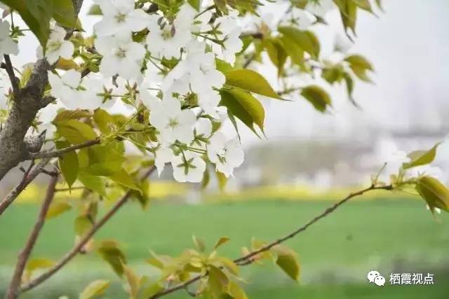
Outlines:
[[[34,33],[43,48],[46,48],[50,33],[50,19],[53,1],[45,0],[1,0],[16,11]]]

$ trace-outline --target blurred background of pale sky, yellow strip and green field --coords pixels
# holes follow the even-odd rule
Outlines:
[[[88,4],[90,1],[86,1]],[[344,87],[334,88],[333,109],[317,113],[304,99],[264,101],[266,139],[241,130],[244,164],[220,192],[212,179],[206,190],[178,185],[170,172],[151,183],[152,202],[142,211],[128,204],[96,239],[117,239],[139,273],[153,270],[143,260],[149,249],[177,255],[192,247],[192,235],[210,246],[222,235],[231,242],[222,254],[239,256],[252,237],[271,240],[302,225],[351,190],[369,183],[391,151],[426,149],[449,132],[449,2],[384,1],[378,18],[361,13],[358,39],[350,53],[361,53],[375,66],[375,84],[356,84],[349,103]],[[86,24],[94,22],[85,17]],[[338,24],[337,12],[326,20]],[[335,25],[316,33],[335,36]],[[331,39],[332,41],[332,39]],[[15,63],[32,61],[36,43],[22,41],[28,52]],[[327,45],[328,48],[332,45]],[[326,48],[326,44],[323,45]],[[254,67],[257,67],[255,65]],[[275,81],[276,74],[264,69]],[[229,129],[231,130],[231,129]],[[448,183],[449,143],[439,148],[438,176]],[[17,172],[0,185],[3,197]],[[37,213],[44,186],[27,188],[0,218],[0,295]],[[67,195],[60,195],[67,196]],[[46,223],[36,258],[58,260],[74,242],[74,211]],[[374,193],[349,202],[288,243],[300,257],[301,279],[294,283],[273,265],[244,269],[250,298],[448,298],[449,218],[432,217],[422,200],[403,193]],[[55,236],[58,236],[55,238]],[[432,286],[368,284],[366,274],[434,274]],[[79,256],[43,286],[23,298],[77,298],[88,281],[111,279],[107,298],[126,298],[118,277],[95,253]],[[387,278],[388,281],[388,278]],[[178,293],[168,298],[189,298]]]

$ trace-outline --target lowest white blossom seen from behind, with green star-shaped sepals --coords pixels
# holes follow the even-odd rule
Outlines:
[[[190,151],[185,151],[175,156],[171,162],[173,167],[173,177],[181,183],[199,183],[203,179],[206,162],[198,155]]]

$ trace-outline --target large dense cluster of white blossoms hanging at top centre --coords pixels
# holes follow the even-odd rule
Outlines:
[[[132,89],[131,104],[145,107],[156,135],[146,146],[159,174],[170,163],[177,181],[200,182],[210,162],[232,176],[243,151],[236,139],[220,132],[227,109],[220,106],[219,90],[226,79],[216,60],[234,64],[243,47],[237,14],[213,18],[210,11],[199,13],[185,3],[164,15],[134,0],[95,2],[102,19],[94,26],[91,52],[101,57],[99,73],[49,71],[51,95],[69,110],[105,109],[106,102],[121,97],[130,104],[127,90]],[[64,29],[53,28],[45,53],[51,64],[74,55],[64,36]],[[105,86],[106,81],[114,84]]]

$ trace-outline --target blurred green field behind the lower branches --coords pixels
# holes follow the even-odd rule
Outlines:
[[[158,203],[147,211],[137,204],[117,214],[96,239],[117,239],[130,265],[139,273],[151,273],[142,263],[156,253],[176,255],[192,247],[192,235],[212,245],[223,235],[231,242],[221,253],[239,256],[250,239],[271,240],[309,221],[330,202],[251,201],[220,204]],[[34,204],[16,204],[0,218],[0,295],[11,275],[15,257],[36,216]],[[435,221],[424,204],[415,200],[349,202],[299,237],[288,242],[300,256],[300,284],[290,281],[273,265],[244,269],[248,295],[268,298],[448,298],[449,217]],[[34,251],[36,258],[57,260],[74,241],[74,212],[46,223]],[[366,273],[431,272],[434,286],[369,285]],[[22,298],[77,298],[88,281],[111,279],[106,298],[126,298],[121,283],[95,253],[79,256],[74,263],[43,286]],[[387,278],[388,280],[388,278]],[[189,298],[177,293],[167,298]]]

